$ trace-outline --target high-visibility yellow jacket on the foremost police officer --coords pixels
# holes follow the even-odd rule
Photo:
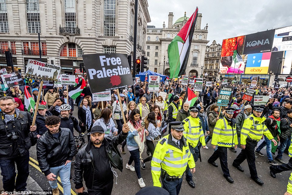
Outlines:
[[[180,176],[184,174],[187,165],[191,169],[195,167],[195,161],[189,150],[187,139],[182,137],[180,141],[182,141],[182,148],[178,148],[172,141],[171,134],[169,134],[161,138],[156,145],[151,161],[151,174],[154,186],[161,187],[159,181],[161,168],[170,176]]]

